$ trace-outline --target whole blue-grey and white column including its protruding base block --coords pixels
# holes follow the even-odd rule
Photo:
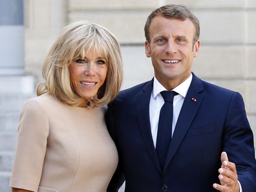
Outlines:
[[[34,78],[25,76],[23,0],[1,0],[0,92],[34,92]]]

